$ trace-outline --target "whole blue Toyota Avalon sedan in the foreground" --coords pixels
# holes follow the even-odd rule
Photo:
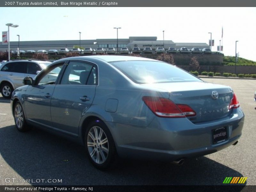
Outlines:
[[[36,126],[84,145],[98,169],[116,156],[182,164],[236,145],[244,113],[231,87],[130,56],[57,60],[12,93],[21,132]]]

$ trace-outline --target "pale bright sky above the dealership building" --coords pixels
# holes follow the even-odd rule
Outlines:
[[[0,30],[10,41],[43,41],[157,36],[175,43],[209,43],[217,51],[223,27],[223,53],[256,61],[255,7],[0,7]],[[1,41],[1,40],[0,40]]]

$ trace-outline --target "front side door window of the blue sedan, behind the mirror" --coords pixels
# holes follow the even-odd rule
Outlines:
[[[46,69],[44,75],[40,76],[37,80],[37,82],[39,81],[38,84],[56,84],[56,80],[61,72],[63,65],[64,62],[56,65],[55,67],[51,67],[48,70]]]

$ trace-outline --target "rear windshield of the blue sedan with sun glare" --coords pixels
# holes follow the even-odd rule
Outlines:
[[[117,61],[110,64],[138,84],[201,81],[188,72],[163,62]]]

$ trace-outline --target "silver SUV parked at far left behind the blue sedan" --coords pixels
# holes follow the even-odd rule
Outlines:
[[[15,60],[4,62],[0,67],[0,90],[4,98],[11,98],[14,89],[23,85],[24,77],[34,78],[51,62],[40,60]]]

